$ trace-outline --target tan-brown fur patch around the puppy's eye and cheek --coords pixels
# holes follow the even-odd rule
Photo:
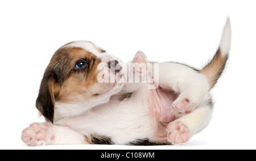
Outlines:
[[[104,83],[99,84],[97,80],[98,73],[100,73],[97,67],[98,64],[101,63],[101,60],[84,49],[74,47],[67,48],[72,48],[72,51],[69,52],[69,57],[72,57],[72,60],[68,62],[72,64],[72,68],[69,69],[71,73],[65,82],[63,82],[63,86],[60,88],[60,94],[56,100],[63,103],[70,103],[77,101],[77,99],[89,99],[90,96],[94,95],[94,92],[90,90],[91,88],[96,88],[99,92],[105,92]],[[89,60],[88,68],[80,71],[73,70],[76,66],[76,62],[81,59]],[[65,65],[63,64],[63,66]],[[98,86],[101,86],[101,88]],[[109,86],[106,86],[106,88],[109,88]]]

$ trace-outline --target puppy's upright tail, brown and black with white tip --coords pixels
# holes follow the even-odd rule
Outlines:
[[[231,45],[231,26],[229,17],[226,19],[226,24],[223,28],[220,45],[212,60],[208,62],[200,73],[203,73],[209,82],[209,89],[211,90],[217,83],[218,78],[221,77],[222,71],[225,69],[226,62],[229,57],[229,50]]]

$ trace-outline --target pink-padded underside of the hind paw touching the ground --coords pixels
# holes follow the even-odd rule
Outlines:
[[[172,145],[186,143],[190,138],[187,126],[179,121],[174,121],[168,124],[166,130],[168,132],[168,141],[171,142]]]

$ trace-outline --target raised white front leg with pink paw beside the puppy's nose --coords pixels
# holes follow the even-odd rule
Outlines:
[[[139,51],[135,54],[133,61],[126,63],[126,83],[122,93],[130,93],[138,90],[142,83],[146,83],[150,75],[150,64],[147,56]]]

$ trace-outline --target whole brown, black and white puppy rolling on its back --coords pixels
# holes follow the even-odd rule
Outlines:
[[[88,41],[61,46],[40,85],[36,108],[47,122],[22,132],[29,146],[68,144],[176,145],[203,130],[212,116],[209,91],[230,49],[230,21],[201,70],[180,63],[131,63]]]

